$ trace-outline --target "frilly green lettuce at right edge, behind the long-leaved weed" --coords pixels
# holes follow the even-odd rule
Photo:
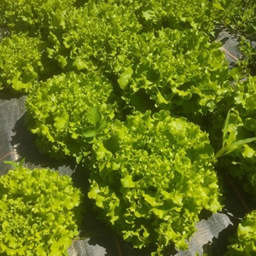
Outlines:
[[[236,147],[237,150],[228,156],[228,159],[220,160],[225,166],[228,164],[231,174],[235,177],[246,178],[245,189],[256,195],[256,143],[253,140],[245,145],[237,145],[240,141],[256,137],[256,77],[249,76],[238,82],[234,88],[234,102],[230,112],[229,125],[224,127],[224,143],[227,146]]]

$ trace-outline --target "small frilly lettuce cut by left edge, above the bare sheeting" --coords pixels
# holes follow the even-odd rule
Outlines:
[[[39,38],[22,34],[3,38],[0,41],[0,90],[28,92],[44,70],[43,48],[44,43]]]

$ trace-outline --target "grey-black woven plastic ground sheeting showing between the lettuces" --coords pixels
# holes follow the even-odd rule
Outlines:
[[[228,32],[221,32],[218,40],[223,43],[223,50],[230,62],[230,67],[240,57],[237,50],[236,38],[231,38]],[[11,166],[3,163],[4,160],[20,160],[25,158],[25,166],[49,167],[73,177],[75,186],[81,188],[84,195],[87,194],[88,172],[76,166],[73,162],[56,162],[48,157],[38,154],[33,136],[24,126],[24,113],[26,96],[6,96],[4,92],[0,95],[0,175],[8,172]],[[236,189],[236,184],[231,183],[229,177],[223,177],[225,183],[225,200],[223,212],[209,215],[202,212],[201,222],[196,225],[195,236],[189,241],[189,250],[177,252],[173,247],[166,248],[166,256],[194,256],[207,253],[207,255],[224,255],[228,239],[236,232],[236,227],[245,213],[252,208],[241,191]],[[84,203],[84,221],[81,226],[81,240],[73,241],[69,247],[70,256],[148,256],[151,248],[142,250],[134,249],[130,243],[108,229],[96,219],[93,212],[93,204],[88,199]]]

